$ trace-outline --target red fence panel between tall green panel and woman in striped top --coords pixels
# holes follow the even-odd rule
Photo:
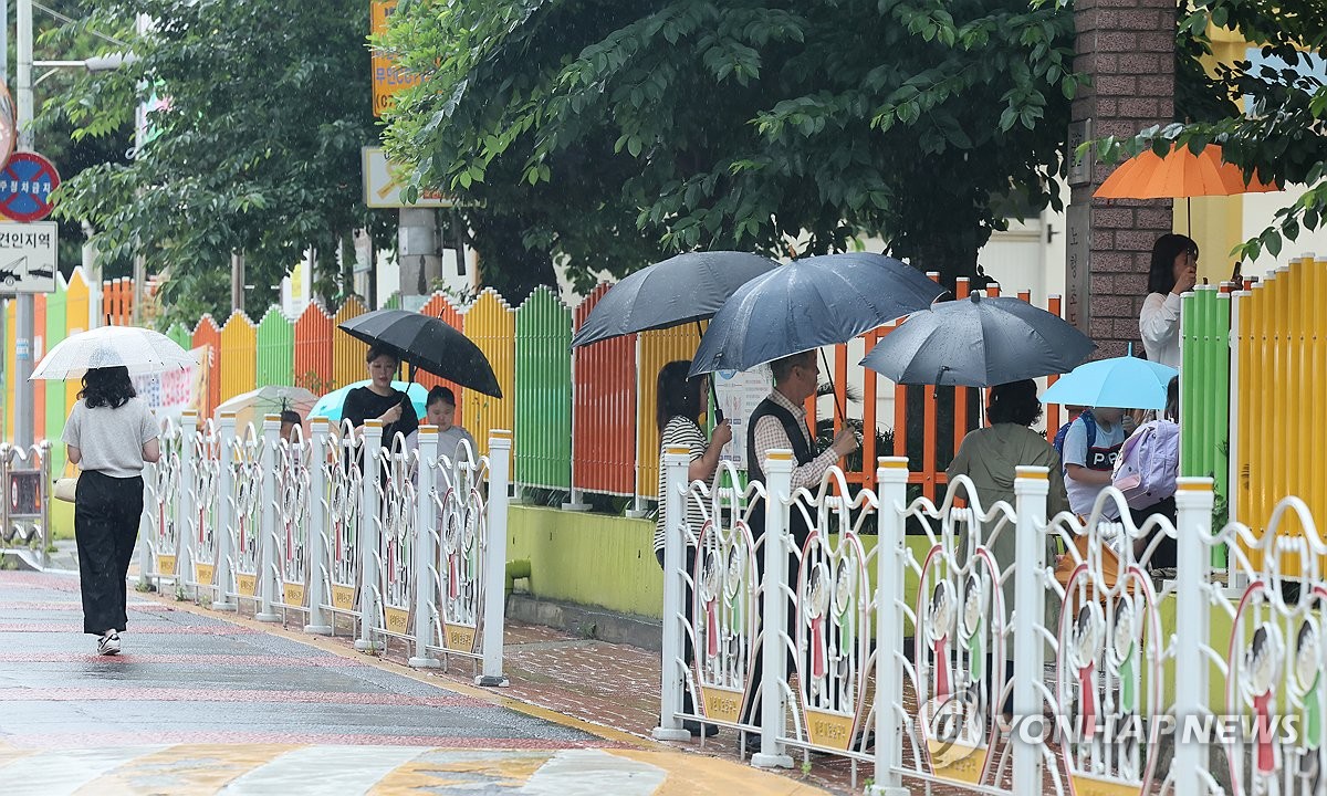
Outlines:
[[[609,285],[600,284],[575,312],[575,329]],[[608,495],[636,491],[636,336],[572,352],[572,487]],[[645,419],[649,423],[649,418]],[[519,452],[519,451],[518,451]]]

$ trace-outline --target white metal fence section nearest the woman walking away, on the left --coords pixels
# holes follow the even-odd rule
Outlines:
[[[276,417],[163,423],[143,474],[142,580],[263,621],[297,612],[308,633],[340,618],[362,650],[399,639],[413,666],[460,655],[482,685],[506,683],[510,432],[492,432],[488,456],[439,451],[433,426],[415,447],[384,440],[378,421],[279,434]]]

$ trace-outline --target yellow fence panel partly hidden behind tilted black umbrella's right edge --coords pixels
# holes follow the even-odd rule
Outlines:
[[[486,289],[464,314],[464,333],[488,357],[503,398],[466,391],[466,429],[474,434],[479,447],[487,444],[495,429],[515,425],[516,406],[516,318],[511,308],[495,291]],[[487,454],[487,451],[478,451]]]

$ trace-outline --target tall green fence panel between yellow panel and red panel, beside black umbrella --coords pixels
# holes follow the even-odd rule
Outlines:
[[[571,310],[547,288],[516,309],[515,482],[571,488]]]

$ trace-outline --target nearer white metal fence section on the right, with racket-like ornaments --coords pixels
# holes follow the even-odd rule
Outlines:
[[[1180,480],[1176,525],[1139,528],[1101,519],[1111,503],[1129,517],[1115,490],[1087,523],[1047,517],[1036,467],[1019,468],[1015,505],[987,505],[966,478],[937,505],[906,500],[897,458],[880,459],[877,494],[851,492],[837,470],[794,492],[784,452],[744,494],[687,484],[687,464],[667,451],[657,738],[690,738],[687,719],[759,734],[755,765],[825,752],[873,767],[873,792],[892,795],[905,781],[1177,796],[1327,785],[1327,545],[1296,498],[1257,539],[1213,529],[1210,479]],[[766,496],[756,536],[751,505]],[[1152,570],[1165,540],[1178,566]],[[1213,578],[1216,545],[1233,551],[1233,586]]]

